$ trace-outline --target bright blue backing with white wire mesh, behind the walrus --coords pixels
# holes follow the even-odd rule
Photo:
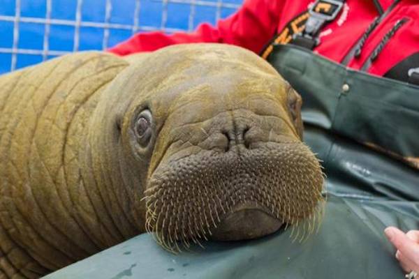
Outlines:
[[[75,50],[103,50],[133,33],[191,31],[242,0],[0,0],[0,74]]]

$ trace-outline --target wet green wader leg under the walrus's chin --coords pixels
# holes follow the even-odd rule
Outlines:
[[[254,241],[205,243],[173,255],[142,234],[47,276],[58,278],[403,278],[383,229],[418,225],[399,202],[328,197],[316,234],[291,229]]]

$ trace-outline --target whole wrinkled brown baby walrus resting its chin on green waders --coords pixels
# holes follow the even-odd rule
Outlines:
[[[300,105],[229,45],[77,53],[3,75],[0,277],[37,278],[146,231],[169,250],[311,232],[323,174]]]

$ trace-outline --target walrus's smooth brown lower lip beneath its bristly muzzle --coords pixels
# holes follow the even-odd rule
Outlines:
[[[284,223],[257,205],[240,204],[233,209],[216,228],[211,239],[216,241],[238,241],[257,239],[277,232]]]

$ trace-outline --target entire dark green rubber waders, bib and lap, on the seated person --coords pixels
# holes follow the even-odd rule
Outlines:
[[[419,229],[419,171],[405,160],[419,157],[419,87],[292,45],[268,60],[302,95],[304,141],[328,176],[317,233],[293,241],[288,229],[178,255],[142,234],[47,278],[404,278],[383,229]]]

